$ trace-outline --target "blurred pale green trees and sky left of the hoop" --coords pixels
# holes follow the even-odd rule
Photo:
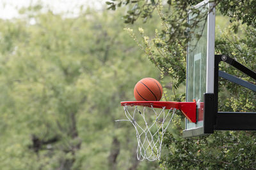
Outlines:
[[[124,9],[105,4],[1,1],[1,169],[158,167],[136,160],[134,129],[114,121],[136,82],[159,71],[124,31]]]

